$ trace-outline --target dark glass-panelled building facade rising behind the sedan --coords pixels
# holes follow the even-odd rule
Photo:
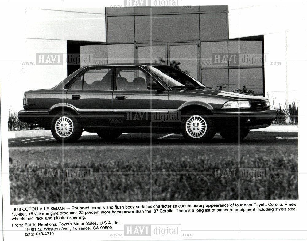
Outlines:
[[[263,35],[228,39],[226,5],[107,7],[105,17],[106,43],[80,46],[94,64],[167,64],[212,89],[265,93]]]

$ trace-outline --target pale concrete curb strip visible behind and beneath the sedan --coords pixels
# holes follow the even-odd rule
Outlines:
[[[297,132],[297,125],[271,125],[266,128],[255,129],[251,131],[263,131],[263,132]],[[89,133],[84,131],[83,136],[97,135],[94,133]],[[51,130],[19,130],[19,131],[9,131],[8,138],[20,138],[20,137],[39,137],[39,136],[52,136]]]

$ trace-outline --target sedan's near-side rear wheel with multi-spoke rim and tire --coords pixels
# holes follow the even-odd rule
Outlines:
[[[68,111],[60,111],[52,119],[51,133],[57,141],[76,141],[82,135],[82,131],[79,118]]]

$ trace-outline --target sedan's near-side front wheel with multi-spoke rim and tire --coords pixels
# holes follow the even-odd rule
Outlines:
[[[182,116],[181,133],[189,142],[210,141],[215,135],[215,128],[204,111],[189,111]]]

